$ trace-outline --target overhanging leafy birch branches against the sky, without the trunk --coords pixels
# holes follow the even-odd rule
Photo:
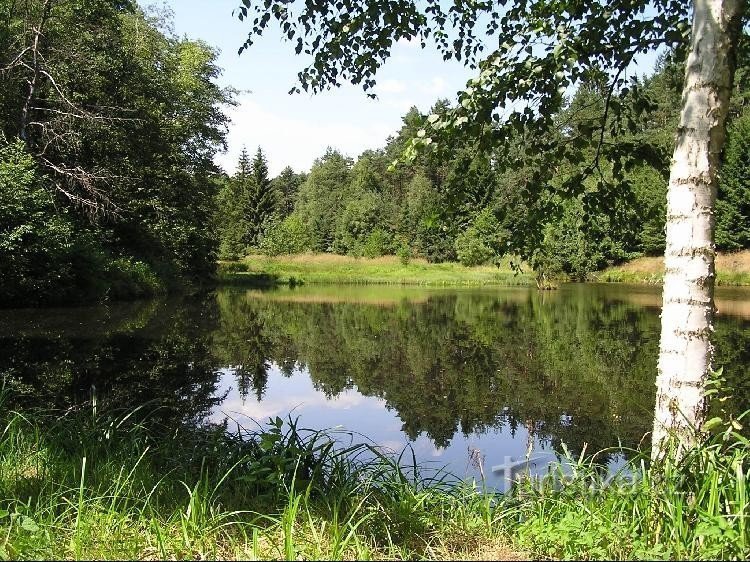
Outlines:
[[[563,186],[571,190],[594,172],[604,181],[603,153],[618,163],[628,160],[632,144],[611,139],[636,132],[638,117],[650,107],[629,76],[634,62],[660,47],[679,57],[690,30],[689,3],[678,0],[512,5],[503,0],[243,0],[236,14],[251,24],[240,53],[275,22],[297,54],[312,58],[290,93],[351,82],[374,97],[376,73],[396,42],[430,44],[445,60],[455,58],[475,69],[476,76],[459,92],[455,107],[429,117],[406,158],[428,146],[440,150],[456,137],[473,139],[479,150],[494,149],[495,155],[520,143],[520,154],[513,151],[518,160],[498,165],[518,167],[522,160],[537,170],[532,180],[541,184],[554,175],[554,163],[579,163],[581,154],[593,149],[580,173]],[[602,111],[562,135],[550,134],[566,106],[566,92],[602,76]]]

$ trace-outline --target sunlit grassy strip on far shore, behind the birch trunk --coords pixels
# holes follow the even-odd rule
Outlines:
[[[660,284],[664,278],[664,258],[638,258],[596,275],[597,281],[613,283]],[[750,250],[716,256],[717,285],[750,285]]]

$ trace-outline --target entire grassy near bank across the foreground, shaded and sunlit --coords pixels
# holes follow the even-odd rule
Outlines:
[[[0,412],[2,559],[750,555],[739,421],[656,474],[582,457],[497,496],[280,419],[230,434],[145,410]]]

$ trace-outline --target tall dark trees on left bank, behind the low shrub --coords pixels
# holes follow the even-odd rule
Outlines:
[[[209,277],[213,157],[226,133],[222,106],[231,102],[215,83],[216,52],[171,36],[168,21],[130,1],[32,0],[3,10],[0,128],[23,141],[49,201],[44,211],[36,199],[17,201],[30,207],[16,214],[36,216],[26,223],[32,230],[45,222],[67,229],[68,248],[61,253],[49,239],[57,261],[34,283],[69,300],[138,296]],[[23,238],[18,255],[30,256],[33,244]],[[9,292],[19,283],[2,279]],[[45,291],[40,285],[35,300],[49,300]]]

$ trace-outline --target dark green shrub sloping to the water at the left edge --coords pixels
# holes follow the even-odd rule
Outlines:
[[[163,290],[151,266],[113,258],[96,230],[55,204],[21,141],[0,145],[0,305],[133,298]]]

